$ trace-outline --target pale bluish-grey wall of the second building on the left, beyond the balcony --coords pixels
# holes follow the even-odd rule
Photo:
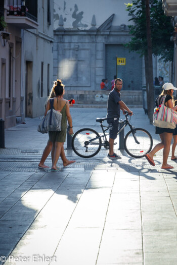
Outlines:
[[[38,30],[24,31],[23,96],[25,96],[25,65],[32,62],[32,117],[43,115],[48,89],[48,64],[50,64],[50,85],[53,83],[53,1],[51,1],[51,25],[47,23],[47,1],[38,0]],[[40,97],[41,62],[43,62],[43,96]],[[24,107],[25,112],[25,107]]]

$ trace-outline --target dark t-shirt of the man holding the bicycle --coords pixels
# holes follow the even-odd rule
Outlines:
[[[107,118],[120,118],[120,93],[114,89],[108,95]]]

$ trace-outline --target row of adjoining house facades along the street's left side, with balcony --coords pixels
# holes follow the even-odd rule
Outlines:
[[[0,12],[0,117],[9,128],[44,113],[53,80],[53,1],[5,0]]]

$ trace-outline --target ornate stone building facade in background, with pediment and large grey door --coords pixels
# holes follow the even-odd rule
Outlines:
[[[114,75],[124,90],[142,89],[142,58],[124,46],[130,40],[123,0],[59,0],[54,3],[54,79],[69,90],[100,90]],[[125,58],[117,65],[116,58]]]

